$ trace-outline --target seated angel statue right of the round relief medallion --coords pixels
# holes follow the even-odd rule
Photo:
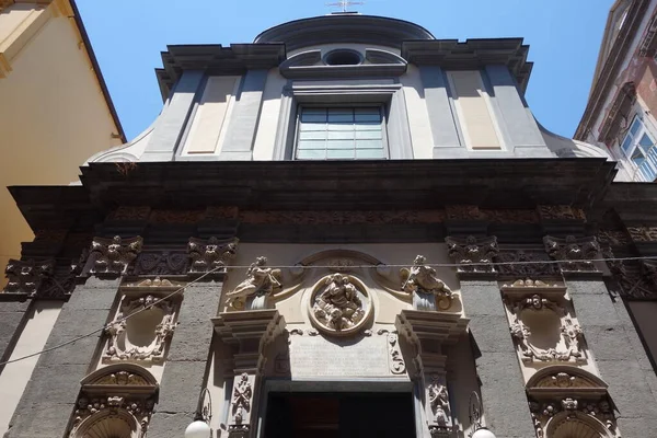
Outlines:
[[[403,268],[402,290],[413,295],[413,307],[416,310],[447,310],[451,306],[452,291],[436,276],[436,269],[426,264],[426,257],[415,257],[413,266]]]

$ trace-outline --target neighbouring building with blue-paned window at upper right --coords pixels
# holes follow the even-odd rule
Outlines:
[[[575,138],[618,161],[616,181],[657,180],[657,2],[618,0]]]

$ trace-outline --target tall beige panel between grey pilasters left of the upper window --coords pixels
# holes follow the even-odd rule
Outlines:
[[[208,78],[183,153],[215,153],[226,131],[238,77]]]

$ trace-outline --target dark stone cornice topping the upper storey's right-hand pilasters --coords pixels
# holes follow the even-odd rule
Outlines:
[[[440,66],[446,69],[479,69],[505,65],[522,91],[527,88],[532,62],[527,61],[529,46],[522,38],[406,41],[402,57],[411,64]]]

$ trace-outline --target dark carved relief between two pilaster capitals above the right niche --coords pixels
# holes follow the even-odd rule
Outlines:
[[[540,263],[540,262],[546,263]],[[558,266],[550,263],[543,250],[499,250],[495,257],[499,264],[495,266],[499,275],[514,277],[553,277],[560,274]]]

